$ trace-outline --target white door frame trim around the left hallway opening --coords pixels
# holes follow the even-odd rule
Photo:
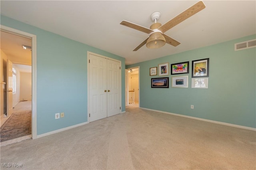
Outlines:
[[[37,138],[36,125],[36,35],[0,25],[0,30],[32,40],[32,139]]]

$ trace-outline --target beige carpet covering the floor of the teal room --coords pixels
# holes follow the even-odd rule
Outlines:
[[[255,131],[136,107],[0,149],[1,163],[26,170],[256,169]]]

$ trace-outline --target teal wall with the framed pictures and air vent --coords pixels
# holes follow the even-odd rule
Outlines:
[[[140,66],[140,107],[256,128],[256,48],[234,51],[234,44],[256,35],[218,43],[158,59]],[[208,89],[191,88],[192,61],[210,58]],[[150,67],[190,61],[188,88],[151,88]],[[178,76],[178,75],[175,75]],[[190,109],[194,105],[194,109]]]

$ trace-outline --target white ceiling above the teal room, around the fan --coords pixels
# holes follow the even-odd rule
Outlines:
[[[161,12],[164,24],[198,1],[5,1],[1,14],[126,59],[126,65],[256,34],[256,1],[204,0],[206,8],[166,35],[181,44],[132,51],[148,34],[120,25],[122,20],[149,28]]]

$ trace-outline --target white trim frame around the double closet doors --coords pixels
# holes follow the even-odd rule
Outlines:
[[[89,56],[90,54],[92,55],[96,55],[98,57],[102,57],[102,58],[106,58],[106,59],[110,59],[113,61],[117,61],[120,62],[120,81],[121,81],[121,88],[120,88],[120,99],[121,99],[121,111],[120,113],[122,113],[122,61],[114,59],[114,58],[110,58],[110,57],[106,57],[104,55],[100,55],[97,53],[93,53],[91,51],[87,51],[87,122],[90,123],[90,117],[89,117],[89,112],[90,112],[90,85],[89,85],[89,81],[90,81],[90,65],[89,65]]]

